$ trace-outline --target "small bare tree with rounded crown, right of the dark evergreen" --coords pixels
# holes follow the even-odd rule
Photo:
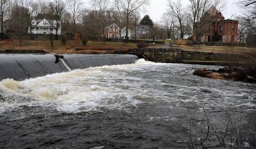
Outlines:
[[[164,13],[161,18],[161,23],[166,31],[167,38],[170,38],[172,34],[172,29],[174,27],[174,18],[168,13]]]

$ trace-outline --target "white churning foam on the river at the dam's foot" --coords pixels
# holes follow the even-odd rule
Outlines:
[[[3,92],[4,95],[19,95],[31,100],[20,100],[17,97],[13,101],[0,102],[0,112],[22,105],[50,106],[64,112],[99,111],[102,108],[129,110],[130,106],[136,108],[138,104],[144,102],[158,101],[173,103],[175,108],[181,108],[180,104],[189,102],[204,104],[208,100],[210,100],[209,106],[226,106],[230,103],[240,105],[237,98],[244,96],[248,98],[243,106],[255,106],[251,101],[256,95],[247,94],[247,90],[221,90],[207,86],[198,88],[189,84],[175,83],[175,80],[163,83],[163,80],[158,80],[157,76],[152,82],[142,76],[150,74],[151,71],[159,71],[160,75],[168,77],[172,74],[163,74],[161,71],[169,67],[173,67],[173,71],[187,70],[182,66],[181,64],[153,63],[140,59],[135,64],[78,69],[71,72],[48,74],[21,82],[5,79],[0,81],[0,92]],[[189,71],[191,70],[189,69]],[[143,73],[137,76],[133,75],[136,74],[134,72]],[[150,83],[160,87],[150,87]],[[161,86],[170,86],[173,89],[164,89]],[[204,94],[202,99],[200,95],[202,89],[210,90],[212,94]],[[215,94],[223,97],[212,99],[212,95]],[[202,111],[202,109],[199,110]]]

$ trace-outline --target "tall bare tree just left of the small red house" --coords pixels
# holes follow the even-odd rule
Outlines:
[[[94,9],[94,16],[101,29],[103,41],[105,41],[105,27],[108,25],[110,0],[90,0],[91,6]]]

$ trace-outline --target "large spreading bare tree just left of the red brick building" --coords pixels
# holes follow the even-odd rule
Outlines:
[[[189,20],[193,25],[193,33],[197,42],[200,42],[200,38],[209,29],[209,26],[214,19],[217,19],[217,14],[223,11],[226,5],[225,0],[189,0],[189,12],[187,14]],[[212,7],[211,11],[208,11]],[[215,20],[217,21],[217,20]],[[205,24],[208,27],[205,27]]]

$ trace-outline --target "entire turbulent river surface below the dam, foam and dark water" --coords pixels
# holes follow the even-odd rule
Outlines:
[[[138,60],[21,82],[2,80],[0,145],[6,143],[4,148],[10,149],[188,148],[190,136],[198,143],[204,138],[206,114],[220,135],[228,117],[233,123],[241,119],[241,144],[255,148],[256,85],[192,75],[198,67],[205,66]],[[218,145],[212,130],[205,144]]]

